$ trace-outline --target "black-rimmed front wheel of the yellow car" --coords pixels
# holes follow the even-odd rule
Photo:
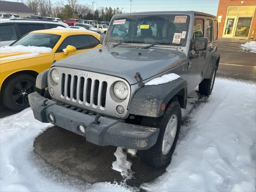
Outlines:
[[[3,87],[2,102],[12,110],[28,108],[28,94],[36,91],[36,78],[27,74],[18,74],[8,79]]]

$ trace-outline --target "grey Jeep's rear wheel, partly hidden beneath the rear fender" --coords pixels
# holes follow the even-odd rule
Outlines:
[[[212,93],[212,89],[214,86],[216,77],[216,66],[214,68],[214,71],[212,73],[212,78],[210,79],[204,79],[198,86],[198,92],[202,95],[209,96]]]

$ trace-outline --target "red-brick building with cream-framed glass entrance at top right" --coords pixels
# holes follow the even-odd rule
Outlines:
[[[256,39],[256,0],[219,0],[218,37]]]

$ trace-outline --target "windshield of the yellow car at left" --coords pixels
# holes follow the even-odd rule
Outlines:
[[[60,35],[47,33],[29,33],[10,46],[23,45],[53,48],[59,39]]]

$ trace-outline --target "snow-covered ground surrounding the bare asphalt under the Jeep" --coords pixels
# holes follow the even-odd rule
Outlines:
[[[206,102],[194,92],[166,173],[149,191],[255,191],[256,84],[216,79]],[[30,108],[0,119],[0,191],[131,191],[124,184],[72,185],[43,174],[33,156],[34,139],[50,124],[34,120]],[[130,152],[132,150],[129,150]],[[128,152],[129,152],[128,151]],[[129,153],[130,153],[129,152]],[[134,153],[134,151],[132,151]],[[129,179],[136,170],[121,148],[113,168]],[[145,175],[146,177],[146,175]]]

